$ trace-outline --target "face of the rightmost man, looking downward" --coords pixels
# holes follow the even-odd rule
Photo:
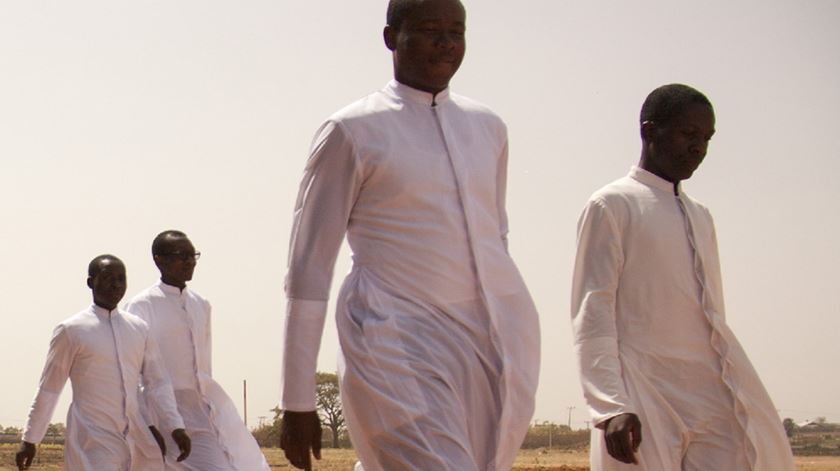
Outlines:
[[[691,178],[706,157],[715,133],[715,114],[708,105],[688,105],[669,123],[652,123],[648,135],[648,170],[672,183]]]

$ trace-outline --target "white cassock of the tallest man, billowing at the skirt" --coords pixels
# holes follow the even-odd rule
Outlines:
[[[507,252],[507,133],[391,81],[318,131],[295,207],[281,407],[315,409],[333,266],[341,398],[364,469],[510,469],[534,410],[536,309]]]

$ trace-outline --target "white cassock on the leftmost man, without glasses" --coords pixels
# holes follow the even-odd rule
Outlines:
[[[61,390],[70,378],[64,469],[160,471],[160,448],[140,413],[138,386],[146,385],[167,435],[184,428],[169,378],[145,322],[119,310],[91,306],[53,332],[23,440],[44,438]]]

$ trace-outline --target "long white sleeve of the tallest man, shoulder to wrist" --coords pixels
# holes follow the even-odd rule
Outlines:
[[[361,183],[351,137],[340,123],[325,123],[304,170],[289,244],[284,410],[315,410],[315,370],[333,268]]]

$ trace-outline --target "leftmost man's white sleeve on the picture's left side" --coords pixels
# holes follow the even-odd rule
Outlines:
[[[61,390],[70,376],[75,355],[76,347],[67,328],[59,325],[53,331],[38,391],[29,409],[29,418],[23,432],[24,441],[40,443],[44,439]]]

